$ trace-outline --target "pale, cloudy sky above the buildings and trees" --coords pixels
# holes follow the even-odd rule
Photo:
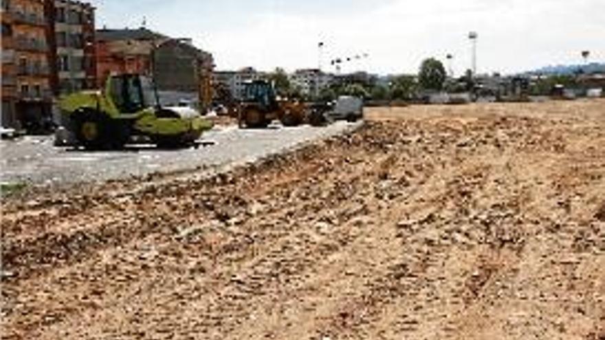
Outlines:
[[[416,72],[421,60],[470,67],[467,34],[478,32],[478,71],[512,73],[605,61],[605,0],[92,0],[97,26],[147,27],[189,37],[218,69],[316,67],[369,54],[343,71]]]

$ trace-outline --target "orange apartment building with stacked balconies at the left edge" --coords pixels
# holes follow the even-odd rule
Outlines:
[[[45,1],[2,1],[3,126],[36,131],[50,117],[47,27]]]

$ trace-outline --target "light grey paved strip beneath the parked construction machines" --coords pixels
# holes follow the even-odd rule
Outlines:
[[[194,170],[205,166],[228,166],[255,161],[308,141],[337,135],[355,126],[346,122],[320,128],[272,126],[264,130],[221,126],[202,136],[202,142],[212,144],[181,150],[128,146],[119,151],[91,152],[57,148],[53,146],[54,137],[28,136],[0,141],[0,181],[64,185]]]

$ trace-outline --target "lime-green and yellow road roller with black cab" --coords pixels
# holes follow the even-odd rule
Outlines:
[[[62,98],[65,127],[89,149],[121,148],[133,137],[158,146],[193,144],[212,123],[188,107],[162,107],[153,82],[138,74],[109,76],[104,89]]]

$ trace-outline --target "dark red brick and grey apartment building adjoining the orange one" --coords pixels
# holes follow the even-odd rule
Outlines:
[[[95,8],[72,0],[47,1],[47,6],[54,94],[96,88]]]

